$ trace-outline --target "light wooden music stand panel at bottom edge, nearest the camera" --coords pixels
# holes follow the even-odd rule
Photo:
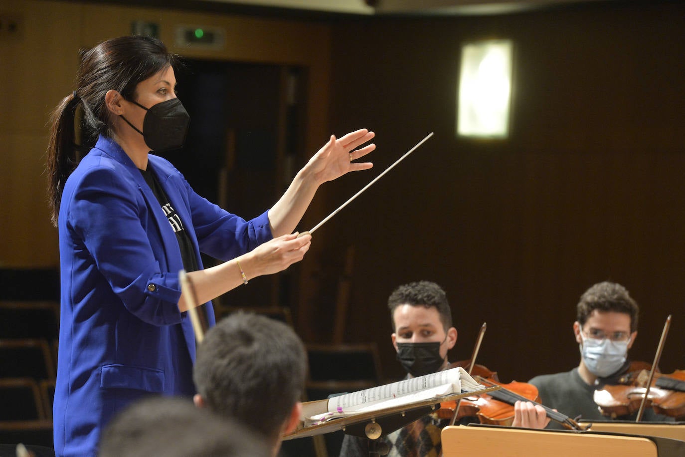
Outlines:
[[[658,456],[653,441],[636,436],[458,425],[443,428],[440,439],[445,457],[471,454],[498,457]]]

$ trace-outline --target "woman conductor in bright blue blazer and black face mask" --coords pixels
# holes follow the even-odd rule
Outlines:
[[[199,303],[301,260],[292,234],[321,184],[375,149],[373,132],[331,136],[284,195],[245,221],[197,195],[158,151],[180,147],[189,116],[175,95],[176,56],[125,36],[86,52],[77,89],[55,108],[47,151],[59,229],[61,321],[53,405],[55,453],[88,456],[112,415],[149,393],[195,393],[195,336],[179,271]],[[82,112],[77,159],[74,119]],[[225,262],[203,269],[200,252]],[[211,304],[206,306],[214,323]],[[275,350],[277,350],[275,348]]]

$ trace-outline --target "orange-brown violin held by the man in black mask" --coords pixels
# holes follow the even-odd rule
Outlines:
[[[470,365],[471,360],[462,360],[451,364],[450,368],[464,367],[466,369]],[[477,364],[474,365],[471,375],[486,387],[501,386],[501,388],[490,393],[462,398],[460,402],[443,402],[440,404],[440,409],[435,412],[435,416],[438,419],[456,420],[461,417],[475,416],[479,419],[480,423],[510,426],[514,422],[514,404],[517,400],[540,404],[538,388],[533,384],[516,381],[503,384],[499,382],[497,372],[490,371],[483,365]],[[557,421],[571,430],[583,430],[580,425],[568,416],[547,406],[540,406],[545,408],[547,417],[553,421]],[[454,417],[457,408],[458,412],[456,417]]]

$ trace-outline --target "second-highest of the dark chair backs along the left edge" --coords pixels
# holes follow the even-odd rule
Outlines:
[[[58,301],[0,301],[1,338],[58,338]]]

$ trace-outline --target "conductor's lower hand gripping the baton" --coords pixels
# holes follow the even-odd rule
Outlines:
[[[244,263],[245,273],[248,279],[261,275],[270,275],[283,271],[295,262],[299,262],[309,250],[312,244],[312,236],[304,234],[298,237],[297,233],[279,236],[273,240],[259,245],[246,254]]]

